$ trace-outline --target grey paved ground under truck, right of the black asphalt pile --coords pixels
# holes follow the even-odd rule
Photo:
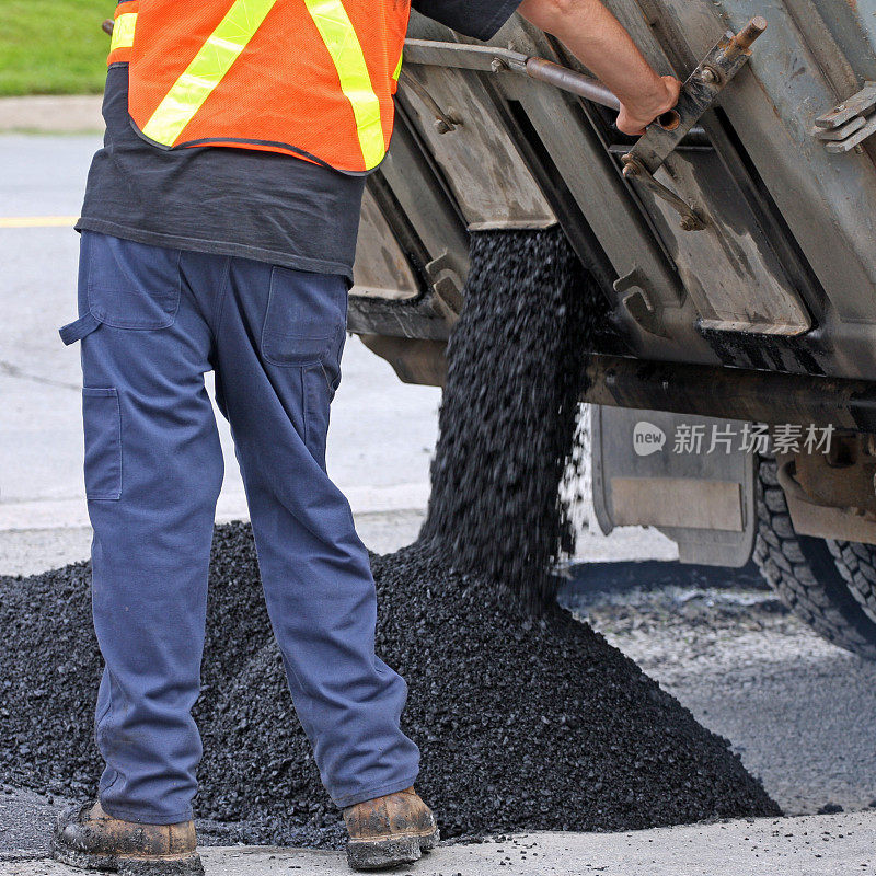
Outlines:
[[[748,567],[580,567],[562,595],[696,719],[787,815],[876,807],[876,664],[815,635]]]

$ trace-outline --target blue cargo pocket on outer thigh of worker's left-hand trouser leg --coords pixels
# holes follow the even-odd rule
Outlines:
[[[85,498],[122,498],[122,410],[114,388],[82,390]]]

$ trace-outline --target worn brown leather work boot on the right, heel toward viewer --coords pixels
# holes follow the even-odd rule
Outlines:
[[[344,809],[349,833],[347,861],[353,869],[413,864],[438,842],[431,809],[413,787]]]

